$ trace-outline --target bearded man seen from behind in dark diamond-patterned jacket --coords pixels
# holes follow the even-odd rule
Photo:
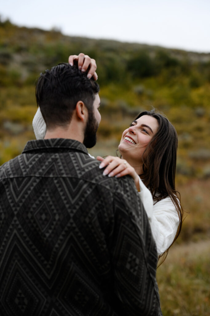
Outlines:
[[[162,315],[156,247],[133,180],[104,177],[87,152],[98,92],[70,64],[37,82],[45,139],[0,167],[0,315]]]

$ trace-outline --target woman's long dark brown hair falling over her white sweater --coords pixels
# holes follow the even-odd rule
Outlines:
[[[177,132],[169,120],[155,110],[141,112],[136,119],[143,115],[154,117],[158,121],[159,128],[143,153],[143,173],[139,176],[150,190],[153,201],[158,202],[167,196],[171,197],[179,216],[179,226],[173,240],[174,243],[180,234],[183,220],[180,194],[175,189]],[[168,249],[159,257],[159,259],[162,257],[161,263],[165,260]]]

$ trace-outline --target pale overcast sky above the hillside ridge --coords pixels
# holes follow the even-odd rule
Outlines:
[[[20,26],[210,52],[210,0],[0,0]]]

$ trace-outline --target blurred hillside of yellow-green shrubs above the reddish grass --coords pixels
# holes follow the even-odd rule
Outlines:
[[[70,37],[8,20],[0,21],[1,164],[34,138],[39,73],[79,52],[98,65],[102,121],[90,153],[115,155],[130,121],[155,107],[178,132],[177,185],[210,177],[210,53]]]

